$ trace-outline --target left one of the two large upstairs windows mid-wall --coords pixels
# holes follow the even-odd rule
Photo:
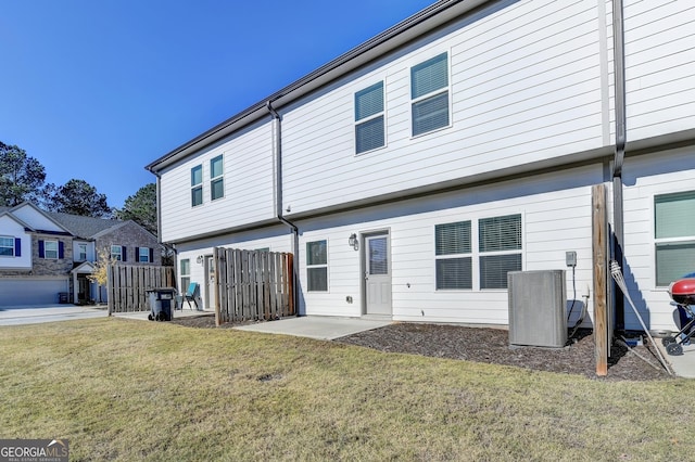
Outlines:
[[[386,145],[383,114],[383,81],[355,93],[356,153]]]

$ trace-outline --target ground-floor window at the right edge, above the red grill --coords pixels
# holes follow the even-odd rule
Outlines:
[[[654,196],[656,285],[695,271],[695,191]]]

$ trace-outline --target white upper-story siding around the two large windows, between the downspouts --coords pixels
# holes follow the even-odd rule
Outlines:
[[[298,101],[282,119],[283,209],[465,184],[607,146],[599,59],[607,44],[598,26],[587,0],[490,7]],[[450,69],[452,128],[413,137],[410,69],[440,55]],[[356,156],[354,94],[384,75],[388,143]]]

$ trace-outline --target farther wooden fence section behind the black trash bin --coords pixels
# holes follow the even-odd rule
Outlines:
[[[147,291],[176,287],[174,267],[110,265],[108,267],[109,315],[149,311]]]

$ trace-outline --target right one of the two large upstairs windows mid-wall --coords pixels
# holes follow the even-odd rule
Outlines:
[[[414,137],[450,125],[447,53],[410,68],[410,99]]]

